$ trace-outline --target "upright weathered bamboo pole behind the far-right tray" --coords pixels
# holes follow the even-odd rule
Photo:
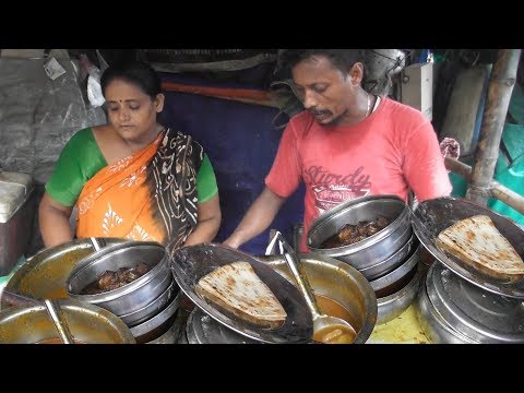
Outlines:
[[[489,79],[480,138],[475,150],[471,182],[466,192],[467,199],[480,205],[486,205],[489,198],[489,186],[499,156],[500,139],[520,57],[521,49],[499,49]]]

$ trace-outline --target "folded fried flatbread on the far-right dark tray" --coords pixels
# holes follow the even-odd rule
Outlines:
[[[464,218],[442,230],[437,246],[478,271],[501,279],[524,277],[524,262],[487,215]]]

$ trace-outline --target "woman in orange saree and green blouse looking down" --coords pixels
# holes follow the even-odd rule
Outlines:
[[[39,206],[46,247],[76,237],[158,241],[175,250],[212,241],[218,190],[202,146],[156,120],[164,95],[156,72],[132,62],[106,70],[109,122],[75,133],[60,154]]]

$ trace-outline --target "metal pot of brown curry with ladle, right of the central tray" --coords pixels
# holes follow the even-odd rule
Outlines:
[[[366,343],[377,321],[377,298],[366,277],[347,263],[333,258],[313,253],[301,253],[299,257],[314,293],[342,305],[352,315],[348,322],[357,332],[354,343]],[[260,259],[297,285],[282,255]]]

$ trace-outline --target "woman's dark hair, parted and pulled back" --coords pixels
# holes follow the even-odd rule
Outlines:
[[[144,61],[126,61],[109,67],[100,78],[102,94],[115,80],[121,80],[139,86],[152,99],[162,93],[162,80],[158,73]]]

